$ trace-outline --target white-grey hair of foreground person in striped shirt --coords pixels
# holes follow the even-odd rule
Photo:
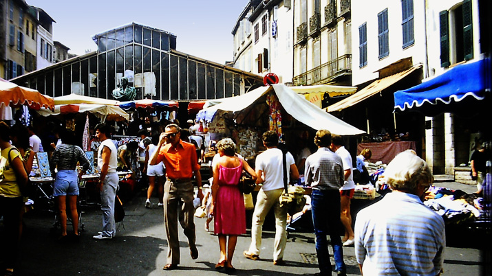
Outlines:
[[[415,192],[419,186],[429,187],[434,182],[429,165],[410,150],[396,155],[387,165],[384,175],[392,189],[403,192]]]

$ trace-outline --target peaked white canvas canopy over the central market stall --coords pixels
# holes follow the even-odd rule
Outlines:
[[[280,104],[287,113],[294,119],[297,119],[297,121],[306,124],[306,126],[310,126],[315,130],[327,129],[330,130],[331,133],[337,135],[360,135],[365,133],[365,131],[359,130],[359,128],[355,128],[354,126],[343,122],[341,119],[326,113],[323,109],[306,100],[306,97],[297,94],[284,84],[259,87],[244,95],[228,97],[220,104],[202,109],[202,111],[197,114],[197,119],[204,119],[207,122],[211,122],[217,110],[231,111],[233,113],[242,111],[270,91],[275,92]]]

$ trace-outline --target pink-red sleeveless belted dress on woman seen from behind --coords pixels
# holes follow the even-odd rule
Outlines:
[[[219,190],[213,217],[215,234],[241,235],[246,233],[244,197],[237,187],[242,170],[242,160],[236,168],[225,168],[219,165]]]

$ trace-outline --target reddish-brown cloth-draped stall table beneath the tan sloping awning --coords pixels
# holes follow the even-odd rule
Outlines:
[[[416,150],[415,141],[385,141],[378,143],[358,143],[357,154],[363,149],[369,148],[372,152],[371,161],[382,161],[389,163],[396,157],[396,154],[405,150]]]

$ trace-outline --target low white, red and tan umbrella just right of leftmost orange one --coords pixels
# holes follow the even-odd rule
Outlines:
[[[37,111],[39,115],[50,116],[67,113],[85,113],[89,112],[103,120],[124,121],[129,119],[128,113],[123,111],[118,106],[107,106],[105,104],[58,104],[54,106],[54,111],[41,109]]]

